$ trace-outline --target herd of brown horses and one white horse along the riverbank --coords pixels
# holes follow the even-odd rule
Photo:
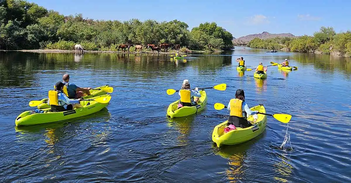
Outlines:
[[[149,50],[149,48],[152,50],[152,53],[154,53],[154,51],[157,51],[158,53],[160,53],[160,51],[163,49],[165,50],[165,52],[167,52],[169,49],[174,48],[175,50],[179,50],[180,49],[180,44],[172,44],[172,43],[162,43],[162,44],[119,44],[116,45],[115,49],[117,49],[117,51],[119,51],[119,49],[122,49],[123,52],[126,52],[126,49],[129,49],[131,47],[135,47],[135,51],[138,52],[138,50],[141,53],[141,50],[146,47],[147,50]],[[74,45],[74,50],[75,51],[79,51],[79,52],[83,52],[84,49],[80,44],[76,44]]]

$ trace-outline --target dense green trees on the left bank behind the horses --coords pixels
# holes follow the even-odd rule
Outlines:
[[[81,14],[64,16],[24,0],[0,0],[1,49],[113,50],[117,44],[174,43],[197,50],[233,47],[232,34],[216,23],[201,23],[189,31],[184,22],[138,19],[100,21]]]

